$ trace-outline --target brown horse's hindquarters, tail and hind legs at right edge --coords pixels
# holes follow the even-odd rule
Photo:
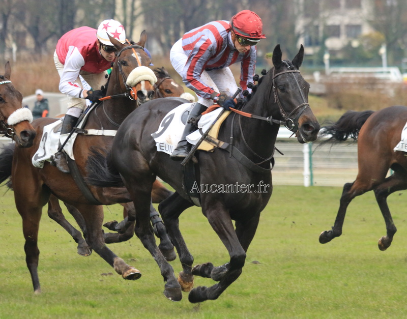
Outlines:
[[[339,210],[334,226],[319,236],[325,244],[342,234],[346,209],[352,199],[373,190],[386,223],[386,236],[380,238],[380,250],[390,247],[397,231],[387,204],[387,197],[407,189],[407,156],[395,151],[401,132],[407,122],[406,106],[390,106],[379,111],[347,111],[334,124],[324,127],[323,135],[330,136],[324,143],[348,138],[358,141],[358,175],[353,183],[343,185]],[[404,148],[405,149],[405,148]],[[389,169],[393,174],[386,178]]]

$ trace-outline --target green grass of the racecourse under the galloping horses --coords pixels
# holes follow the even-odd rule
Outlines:
[[[372,193],[351,203],[341,237],[319,244],[319,233],[333,225],[340,194],[335,187],[276,186],[242,275],[218,300],[191,304],[186,293],[177,303],[163,296],[159,269],[138,239],[110,245],[142,272],[139,280],[125,281],[96,253],[76,254],[76,244],[45,209],[39,233],[42,294],[34,295],[21,218],[7,192],[0,196],[0,318],[405,317],[405,193],[389,197],[398,233],[385,252],[377,248],[385,224]],[[120,219],[120,207],[110,210],[106,221]],[[198,208],[181,216],[180,227],[196,264],[228,261]],[[171,265],[181,270],[178,258]],[[195,286],[213,283],[195,278]]]

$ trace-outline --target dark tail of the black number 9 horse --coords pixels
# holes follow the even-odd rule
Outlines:
[[[91,147],[91,155],[86,163],[86,182],[98,187],[124,187],[119,172],[109,165],[110,154],[105,154],[102,149]]]

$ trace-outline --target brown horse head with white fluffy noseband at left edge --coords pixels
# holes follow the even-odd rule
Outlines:
[[[31,126],[33,114],[22,107],[22,95],[10,81],[11,66],[6,63],[5,74],[0,75],[0,133],[11,137],[19,147],[33,145],[36,131]]]

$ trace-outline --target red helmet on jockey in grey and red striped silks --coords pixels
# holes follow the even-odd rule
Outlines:
[[[265,39],[263,23],[260,17],[250,10],[243,10],[235,14],[229,22],[236,35],[248,39]],[[256,41],[258,42],[258,40]]]

